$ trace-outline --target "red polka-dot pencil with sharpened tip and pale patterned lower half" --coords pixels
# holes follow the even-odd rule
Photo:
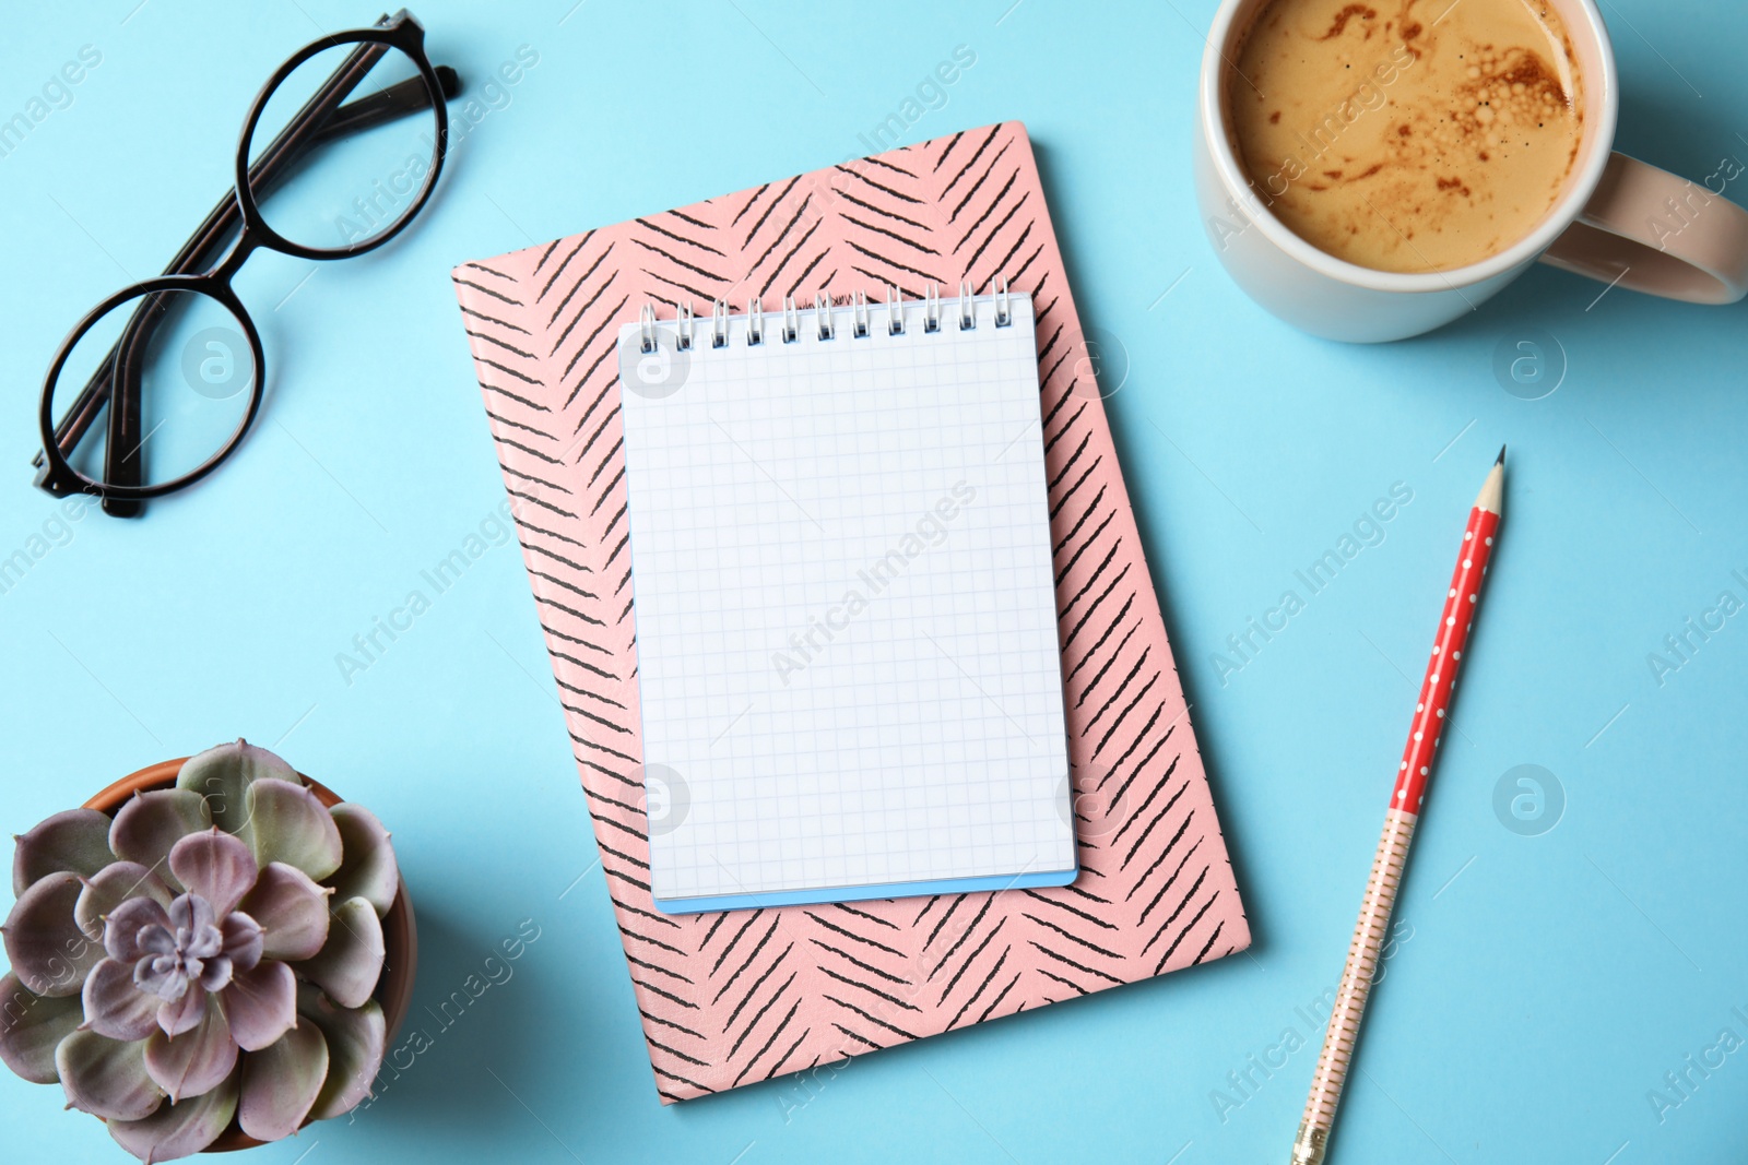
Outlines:
[[[1330,1127],[1335,1123],[1335,1106],[1341,1104],[1353,1044],[1360,1036],[1360,1017],[1365,1015],[1365,999],[1372,992],[1372,975],[1377,971],[1384,934],[1390,929],[1390,912],[1397,905],[1402,868],[1407,865],[1409,844],[1414,840],[1414,826],[1426,800],[1433,753],[1444,737],[1456,672],[1463,662],[1468,632],[1475,625],[1475,611],[1481,608],[1481,582],[1488,573],[1488,559],[1493,557],[1493,536],[1500,527],[1503,496],[1505,449],[1502,447],[1500,459],[1493,463],[1493,472],[1475,498],[1475,508],[1468,512],[1468,527],[1463,529],[1463,548],[1456,555],[1456,571],[1451,575],[1451,589],[1439,615],[1439,634],[1432,643],[1426,679],[1414,704],[1409,742],[1402,749],[1397,784],[1390,791],[1384,833],[1377,840],[1372,877],[1360,903],[1360,922],[1353,927],[1348,966],[1341,971],[1335,1006],[1323,1034],[1323,1051],[1316,1062],[1316,1076],[1311,1078],[1311,1095],[1299,1121],[1299,1137],[1294,1139],[1292,1165],[1318,1165]]]

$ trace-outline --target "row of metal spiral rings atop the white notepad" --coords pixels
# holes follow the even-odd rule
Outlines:
[[[995,290],[995,327],[1007,328],[1014,323],[1014,304],[1012,293],[1007,286],[1005,276],[996,276],[993,279]],[[939,334],[942,330],[942,300],[940,285],[928,281],[923,285],[923,297],[916,302],[923,306],[923,332]],[[874,302],[869,300],[867,292],[850,293],[850,337],[867,339],[874,334]],[[804,309],[795,302],[794,295],[783,297],[783,318],[778,325],[778,339],[785,344],[794,344],[801,339],[801,313]],[[820,342],[837,339],[837,323],[834,320],[836,306],[832,299],[822,290],[813,295],[813,330]],[[732,306],[727,299],[710,300],[710,346],[711,348],[729,348],[732,334]],[[960,279],[960,297],[954,307],[954,316],[958,318],[960,332],[974,332],[977,328],[977,295],[972,293],[972,281]],[[657,351],[661,341],[657,335],[657,318],[656,304],[643,304],[638,309],[638,348],[640,351],[654,353]],[[675,348],[678,351],[692,351],[696,318],[692,314],[692,304],[682,302],[675,309]],[[904,295],[898,292],[895,283],[886,285],[886,335],[904,335],[905,318],[904,318]],[[764,300],[752,297],[746,300],[746,346],[755,348],[766,342],[766,321],[764,321]]]

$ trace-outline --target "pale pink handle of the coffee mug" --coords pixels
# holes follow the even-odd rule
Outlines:
[[[1613,154],[1596,194],[1542,262],[1664,299],[1734,304],[1748,295],[1748,210]]]

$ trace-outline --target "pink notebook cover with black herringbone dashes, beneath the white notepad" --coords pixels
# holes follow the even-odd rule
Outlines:
[[[1037,309],[1080,877],[696,915],[656,908],[619,328],[645,304]],[[1026,129],[1002,122],[454,269],[662,1102],[1150,978],[1250,943]]]

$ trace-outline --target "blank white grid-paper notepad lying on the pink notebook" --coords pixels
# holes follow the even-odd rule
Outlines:
[[[673,913],[1077,872],[1031,299],[621,332],[650,817]],[[603,583],[605,585],[605,583]]]

